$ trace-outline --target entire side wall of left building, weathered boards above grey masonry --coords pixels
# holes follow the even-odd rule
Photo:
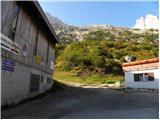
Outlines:
[[[13,12],[16,2],[1,2],[1,33],[6,37],[9,36],[9,31],[12,23]],[[33,14],[33,13],[32,13]],[[33,16],[20,7],[17,29],[14,42],[19,45],[19,53],[14,54],[10,51],[2,49],[1,64],[4,60],[13,62],[14,71],[1,71],[1,92],[2,105],[17,103],[23,99],[33,97],[39,93],[45,92],[49,89],[53,81],[48,83],[47,78],[52,78],[53,69],[50,69],[51,61],[55,59],[55,43],[50,43],[50,38],[47,32],[43,30],[41,24],[38,24]],[[41,58],[41,62],[36,62],[35,46],[36,38],[38,36],[37,54]],[[49,45],[48,45],[49,44]],[[27,49],[23,51],[24,45]],[[49,54],[47,56],[47,49],[49,46]],[[48,57],[48,62],[47,62]],[[36,74],[43,77],[43,81],[39,82],[38,92],[30,92],[31,74]]]

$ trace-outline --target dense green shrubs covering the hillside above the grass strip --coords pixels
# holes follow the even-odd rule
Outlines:
[[[58,45],[56,49],[58,68],[75,70],[78,67],[90,71],[89,75],[91,72],[98,71],[96,73],[99,75],[118,76],[123,75],[121,64],[126,62],[125,56],[135,56],[137,60],[158,57],[157,34],[135,34],[128,30],[117,33],[115,35],[108,30],[92,31],[84,35],[83,41]],[[95,80],[99,78],[93,76]]]

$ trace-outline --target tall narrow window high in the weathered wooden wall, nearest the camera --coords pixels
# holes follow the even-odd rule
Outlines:
[[[12,25],[11,25],[11,29],[10,29],[10,34],[9,34],[9,38],[12,39],[12,40],[14,40],[14,38],[15,38],[19,10],[20,10],[20,6],[17,3],[16,6],[15,6],[15,12],[14,12]]]

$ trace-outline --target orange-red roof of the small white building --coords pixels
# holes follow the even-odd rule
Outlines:
[[[159,59],[152,58],[122,64],[124,71],[159,68]]]

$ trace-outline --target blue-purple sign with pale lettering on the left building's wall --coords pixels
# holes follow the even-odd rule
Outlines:
[[[6,70],[6,71],[14,71],[14,62],[10,61],[10,60],[4,60],[2,63],[2,70]]]

